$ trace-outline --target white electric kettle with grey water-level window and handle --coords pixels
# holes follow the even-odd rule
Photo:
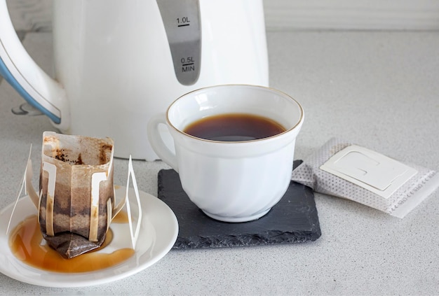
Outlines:
[[[147,122],[182,94],[269,83],[262,0],[53,1],[55,79],[22,47],[6,0],[0,26],[8,83],[60,132],[112,137],[117,157],[156,160]]]

